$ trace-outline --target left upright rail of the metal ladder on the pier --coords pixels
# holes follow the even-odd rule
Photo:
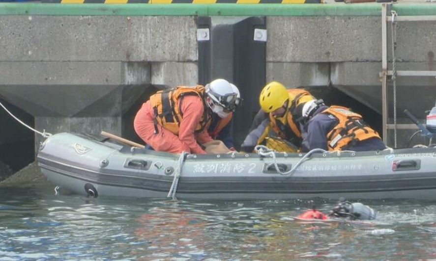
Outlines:
[[[386,91],[386,76],[387,76],[387,29],[386,29],[386,13],[387,4],[381,5],[381,113],[383,127],[383,142],[387,145],[387,91]]]

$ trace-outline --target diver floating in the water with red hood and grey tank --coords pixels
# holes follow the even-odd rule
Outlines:
[[[340,198],[338,205],[329,211],[327,215],[316,209],[307,210],[297,216],[300,219],[320,219],[329,217],[349,218],[350,220],[372,220],[377,218],[377,211],[362,203],[351,203],[345,198]]]

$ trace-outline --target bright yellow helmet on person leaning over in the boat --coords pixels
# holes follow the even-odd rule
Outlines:
[[[271,81],[263,87],[259,103],[266,113],[280,108],[289,99],[286,87],[277,81]]]

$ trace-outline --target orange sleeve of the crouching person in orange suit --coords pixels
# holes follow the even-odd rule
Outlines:
[[[195,128],[200,122],[204,112],[202,100],[198,96],[184,96],[181,100],[180,110],[183,113],[183,120],[180,122],[178,138],[191,149],[191,153],[206,154],[206,152],[197,143],[196,138],[199,138],[201,143],[204,143],[203,140],[208,140],[207,137],[205,137],[204,134],[198,135],[198,137],[195,135]],[[203,132],[204,130],[202,133]],[[207,134],[207,136],[211,140],[209,134]]]

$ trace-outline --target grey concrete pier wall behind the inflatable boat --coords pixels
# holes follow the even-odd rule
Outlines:
[[[382,3],[325,2],[0,3],[0,102],[36,130],[90,135],[105,130],[140,142],[132,119],[156,86],[199,81],[198,18],[210,16],[214,24],[217,17],[261,16],[266,17],[267,38],[265,71],[259,74],[266,82],[309,88],[337,105],[355,104],[357,112],[378,123],[380,132]],[[436,4],[425,0],[399,0],[388,9],[398,17],[436,16]],[[436,21],[401,21],[395,27],[388,22],[389,68],[392,28],[397,70],[436,71]],[[247,90],[260,91],[241,87],[246,96]],[[405,108],[424,119],[435,104],[435,77],[398,77],[396,87],[399,122],[411,123],[400,114]],[[392,121],[392,81],[388,100]],[[1,108],[0,120],[6,122],[0,152],[5,146],[4,151],[24,148],[15,144],[26,142],[34,158],[43,138],[23,129]],[[413,131],[400,130],[405,140]],[[0,153],[0,160],[4,155]],[[32,161],[28,158],[26,164]]]

